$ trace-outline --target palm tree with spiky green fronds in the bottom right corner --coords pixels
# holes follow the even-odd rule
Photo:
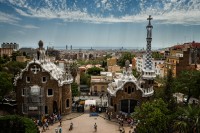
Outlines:
[[[199,107],[188,105],[180,108],[180,116],[174,122],[174,128],[180,133],[195,133],[200,131],[200,110]]]

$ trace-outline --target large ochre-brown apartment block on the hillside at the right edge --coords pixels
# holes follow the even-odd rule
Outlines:
[[[164,63],[164,75],[168,69],[172,70],[174,77],[183,70],[195,70],[200,64],[200,43],[191,42],[175,45],[170,48],[170,54]]]

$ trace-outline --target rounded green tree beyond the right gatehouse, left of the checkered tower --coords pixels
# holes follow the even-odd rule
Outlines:
[[[125,62],[127,60],[129,60],[130,63],[132,63],[133,57],[134,57],[134,55],[131,52],[124,52],[124,53],[122,53],[122,56],[118,60],[119,66],[124,67],[125,66]]]

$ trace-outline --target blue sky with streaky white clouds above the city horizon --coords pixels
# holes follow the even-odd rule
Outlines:
[[[0,0],[0,43],[144,48],[148,15],[153,48],[200,42],[199,0]]]

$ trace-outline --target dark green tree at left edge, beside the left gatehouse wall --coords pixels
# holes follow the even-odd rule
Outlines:
[[[0,72],[0,96],[3,98],[13,89],[12,76],[6,72]]]

